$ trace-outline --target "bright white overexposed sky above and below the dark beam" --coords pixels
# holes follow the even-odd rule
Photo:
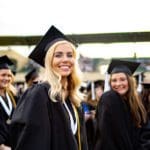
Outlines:
[[[149,0],[0,0],[0,36],[44,35],[51,25],[64,34],[150,31]],[[87,57],[132,57],[135,51],[150,57],[149,48],[148,42],[83,44],[78,49]],[[14,49],[28,55],[32,47]]]

